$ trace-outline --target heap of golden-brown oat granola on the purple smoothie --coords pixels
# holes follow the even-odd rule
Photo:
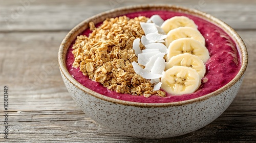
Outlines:
[[[132,66],[133,61],[137,62],[133,41],[144,35],[139,22],[146,22],[147,19],[144,16],[133,19],[120,16],[104,20],[98,28],[90,22],[92,33],[88,37],[77,36],[72,47],[75,57],[73,67],[80,67],[83,75],[109,90],[144,97],[152,94],[164,97],[165,92],[153,91],[154,84],[137,75]],[[144,49],[142,44],[140,47]]]

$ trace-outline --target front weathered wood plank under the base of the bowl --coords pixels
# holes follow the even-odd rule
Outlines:
[[[52,113],[9,112],[8,141],[208,142],[210,139],[214,142],[236,140],[253,142],[256,126],[252,114],[241,111],[236,114],[230,115],[224,112],[216,121],[186,135],[167,139],[139,139],[112,132],[77,110],[52,111]]]

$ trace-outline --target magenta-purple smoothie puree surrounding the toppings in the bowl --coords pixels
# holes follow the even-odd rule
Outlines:
[[[173,16],[187,16],[195,21],[196,25],[198,26],[198,30],[204,36],[206,47],[210,55],[210,59],[206,63],[206,74],[204,77],[208,78],[208,81],[206,83],[202,83],[196,92],[181,96],[173,96],[167,93],[166,97],[164,98],[158,96],[145,98],[143,96],[132,96],[131,94],[122,94],[115,91],[109,91],[100,83],[90,80],[87,76],[83,76],[81,71],[79,71],[79,68],[72,67],[72,63],[74,62],[74,56],[71,53],[72,45],[68,50],[66,59],[69,73],[79,83],[100,94],[119,100],[140,103],[168,103],[198,98],[221,88],[237,75],[241,67],[241,62],[236,43],[234,43],[229,35],[221,28],[199,17],[178,12],[144,11],[139,13],[129,13],[126,14],[126,16],[130,18],[138,16],[151,17],[154,14],[160,15],[164,20]],[[82,34],[88,36],[90,32],[91,31],[87,29]]]

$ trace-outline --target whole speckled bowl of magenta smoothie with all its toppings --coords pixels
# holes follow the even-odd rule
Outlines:
[[[79,23],[63,39],[58,61],[72,98],[97,123],[128,136],[167,138],[198,130],[228,108],[248,54],[240,36],[209,14],[142,5]]]

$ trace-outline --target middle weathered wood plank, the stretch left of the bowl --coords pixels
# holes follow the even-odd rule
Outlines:
[[[0,84],[9,87],[10,110],[66,109],[62,102],[69,109],[77,108],[63,84],[57,64],[58,47],[66,34],[0,34],[3,37],[0,41]]]

